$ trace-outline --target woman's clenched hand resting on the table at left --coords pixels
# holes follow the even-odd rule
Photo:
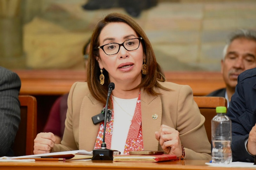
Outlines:
[[[50,153],[55,142],[56,137],[52,132],[38,133],[34,140],[34,154]]]

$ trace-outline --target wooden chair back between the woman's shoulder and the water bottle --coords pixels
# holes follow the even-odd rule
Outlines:
[[[201,114],[205,117],[204,127],[207,133],[208,140],[212,141],[212,118],[216,115],[217,106],[227,107],[228,102],[224,97],[205,97],[205,96],[194,96],[197,106]]]

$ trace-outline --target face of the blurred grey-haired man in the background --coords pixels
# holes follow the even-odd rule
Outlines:
[[[221,73],[227,86],[236,87],[238,75],[256,67],[256,42],[238,38],[231,42],[225,59],[221,60]]]

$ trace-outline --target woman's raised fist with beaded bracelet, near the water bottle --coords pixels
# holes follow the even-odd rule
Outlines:
[[[160,130],[155,132],[155,136],[164,152],[177,157],[182,156],[179,131],[169,126],[161,125]]]

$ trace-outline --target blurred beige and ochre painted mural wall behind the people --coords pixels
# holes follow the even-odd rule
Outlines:
[[[16,30],[7,36],[14,41],[5,45],[12,52],[0,55],[0,65],[83,69],[82,47],[90,38],[94,24],[110,12],[126,13],[119,7],[86,11],[81,7],[86,2],[22,0],[18,16],[0,18],[0,25],[8,19],[16,25]],[[20,20],[13,21],[15,18]],[[141,11],[135,20],[147,33],[164,70],[219,71],[228,33],[239,28],[256,29],[256,2],[158,0],[155,7]],[[4,25],[0,38],[10,32],[10,27]],[[4,45],[0,43],[0,49],[1,46]],[[14,53],[15,50],[18,52]]]

